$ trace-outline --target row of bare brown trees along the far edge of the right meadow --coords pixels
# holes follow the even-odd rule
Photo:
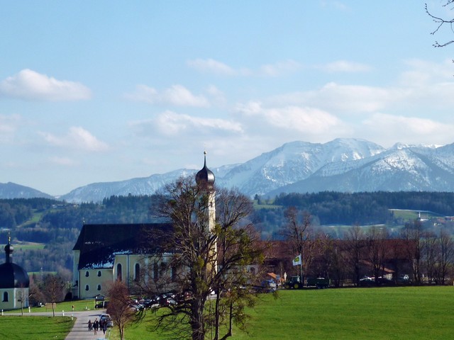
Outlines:
[[[433,231],[416,219],[392,235],[384,225],[353,225],[333,238],[311,224],[309,212],[290,207],[285,218],[282,236],[291,254],[301,255],[301,272],[286,263],[289,273],[330,278],[335,286],[453,281],[453,235],[443,227]]]

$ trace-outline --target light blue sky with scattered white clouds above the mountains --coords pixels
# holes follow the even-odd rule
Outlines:
[[[0,183],[247,162],[287,142],[454,142],[425,1],[2,1]],[[427,1],[453,17],[443,1]]]

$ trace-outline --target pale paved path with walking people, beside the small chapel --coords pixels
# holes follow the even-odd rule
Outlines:
[[[109,339],[110,329],[106,331],[106,335],[102,333],[101,330],[94,334],[94,331],[88,330],[88,320],[98,318],[99,314],[105,313],[106,310],[84,310],[82,312],[65,312],[65,317],[74,317],[76,321],[74,322],[74,327],[72,327],[70,333],[66,336],[65,340],[98,340],[98,339]],[[20,315],[20,313],[11,313],[10,315]],[[33,316],[52,316],[52,312],[24,312],[24,316],[33,315]],[[55,311],[56,317],[61,317],[63,312]]]

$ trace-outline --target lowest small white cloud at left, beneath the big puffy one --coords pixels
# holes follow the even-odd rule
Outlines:
[[[73,126],[65,136],[56,136],[48,132],[40,132],[45,141],[56,147],[68,147],[71,149],[82,149],[89,152],[102,152],[109,149],[109,146],[84,128]]]

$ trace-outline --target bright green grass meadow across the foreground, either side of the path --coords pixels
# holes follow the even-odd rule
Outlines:
[[[453,286],[279,290],[277,296],[260,296],[249,310],[248,333],[235,330],[231,339],[454,339],[453,300]],[[75,307],[86,305],[77,302]],[[70,307],[58,305],[56,310]],[[69,320],[5,314],[0,317],[0,339],[65,339]],[[109,339],[119,339],[116,328]],[[172,336],[151,334],[148,323],[140,322],[126,329],[126,339]]]

